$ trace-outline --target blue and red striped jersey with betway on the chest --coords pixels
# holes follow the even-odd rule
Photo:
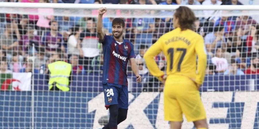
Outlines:
[[[123,39],[119,44],[113,36],[104,36],[103,41],[103,73],[102,83],[128,85],[127,64],[130,58],[135,58],[131,42]]]

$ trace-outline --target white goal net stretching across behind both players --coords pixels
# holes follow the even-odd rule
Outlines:
[[[142,82],[127,67],[129,109],[118,128],[166,129],[163,87],[145,67],[143,54],[173,30],[178,5],[0,4],[0,128],[102,128],[108,121],[102,89],[103,52],[96,34],[99,7],[107,7],[103,30],[125,20],[124,38],[134,44]],[[189,6],[194,29],[207,51],[199,89],[211,129],[259,127],[259,6]],[[72,64],[70,91],[49,91],[47,65]],[[163,53],[155,56],[165,71]],[[184,117],[182,128],[192,129]]]

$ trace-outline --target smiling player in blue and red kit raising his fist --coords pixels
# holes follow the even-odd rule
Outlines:
[[[128,109],[128,82],[127,64],[131,64],[136,82],[141,82],[138,67],[135,61],[134,47],[131,42],[123,38],[125,22],[121,18],[112,21],[112,36],[102,31],[102,15],[106,8],[99,9],[97,33],[103,46],[103,74],[102,87],[106,109],[109,109],[110,118],[103,129],[117,129],[117,125],[127,118]]]

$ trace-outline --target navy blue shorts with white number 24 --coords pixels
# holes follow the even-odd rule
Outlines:
[[[118,104],[119,108],[128,109],[128,87],[125,85],[106,83],[102,85],[106,109],[110,105]]]

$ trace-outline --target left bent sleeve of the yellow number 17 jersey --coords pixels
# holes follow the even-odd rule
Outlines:
[[[155,42],[155,44],[153,44],[144,54],[146,67],[148,68],[149,72],[155,77],[161,77],[162,75],[164,75],[164,72],[158,68],[154,59],[154,57],[163,50],[162,37],[160,37],[157,42]]]

